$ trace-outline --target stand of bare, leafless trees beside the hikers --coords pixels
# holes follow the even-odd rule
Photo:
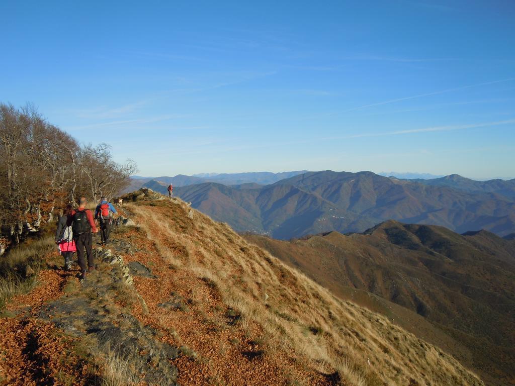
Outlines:
[[[136,165],[113,161],[110,146],[80,147],[35,108],[0,104],[0,240],[18,243],[77,194],[97,200],[127,186]],[[6,241],[7,240],[7,241]]]

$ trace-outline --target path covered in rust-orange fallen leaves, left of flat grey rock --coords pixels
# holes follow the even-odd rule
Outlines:
[[[54,263],[55,252],[45,260]],[[78,272],[50,266],[39,272],[39,284],[30,293],[13,297],[0,317],[0,384],[64,385],[71,384],[71,379],[86,382],[89,377],[87,367],[83,369],[72,354],[73,340],[36,319],[41,306],[62,296],[68,279]]]

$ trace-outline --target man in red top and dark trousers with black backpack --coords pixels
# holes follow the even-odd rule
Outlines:
[[[73,239],[77,248],[81,280],[86,278],[88,272],[95,270],[95,261],[93,260],[93,254],[91,253],[93,243],[91,232],[98,232],[91,210],[86,209],[87,203],[88,200],[85,197],[81,197],[79,200],[79,207],[70,212],[68,215],[68,221],[66,222],[67,226],[72,226]],[[84,257],[88,259],[87,267]]]

